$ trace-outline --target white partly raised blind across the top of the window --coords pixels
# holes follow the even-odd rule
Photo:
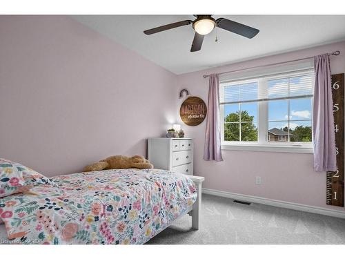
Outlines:
[[[314,73],[309,70],[299,75],[266,77],[266,87],[259,88],[259,79],[247,83],[222,82],[220,104],[262,102],[279,99],[313,97]]]

